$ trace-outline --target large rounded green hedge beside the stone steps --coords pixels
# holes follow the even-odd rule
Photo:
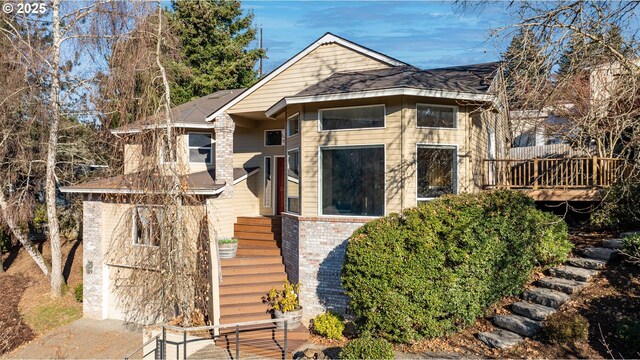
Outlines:
[[[395,342],[472,324],[522,291],[538,265],[563,262],[567,226],[513,191],[442,197],[356,230],[342,286],[361,331]]]

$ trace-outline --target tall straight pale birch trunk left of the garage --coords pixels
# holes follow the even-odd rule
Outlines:
[[[49,242],[51,243],[51,292],[62,295],[62,253],[60,251],[60,226],[56,211],[56,153],[58,151],[58,127],[60,125],[60,0],[53,0],[53,46],[51,56],[51,121],[47,149],[46,200]]]

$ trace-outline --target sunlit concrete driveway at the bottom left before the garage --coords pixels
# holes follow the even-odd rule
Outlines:
[[[6,354],[9,359],[122,359],[142,346],[142,329],[116,320],[80,319]]]

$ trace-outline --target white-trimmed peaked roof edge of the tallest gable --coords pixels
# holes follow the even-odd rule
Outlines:
[[[402,62],[400,60],[394,59],[394,58],[392,58],[390,56],[387,56],[387,55],[382,54],[380,52],[371,50],[371,49],[366,48],[366,47],[364,47],[362,45],[358,45],[358,44],[356,44],[354,42],[351,42],[351,41],[349,41],[347,39],[343,39],[343,38],[341,38],[339,36],[336,36],[336,35],[328,32],[328,33],[324,34],[322,37],[320,37],[318,40],[314,41],[311,45],[307,46],[304,50],[300,51],[299,53],[294,55],[292,58],[287,60],[284,64],[280,65],[275,70],[271,71],[269,74],[264,76],[262,79],[260,79],[260,81],[255,83],[253,86],[249,87],[240,96],[234,98],[233,100],[229,101],[227,104],[222,106],[221,108],[219,108],[216,111],[213,111],[212,113],[210,113],[210,115],[207,116],[207,121],[213,121],[213,119],[215,119],[216,116],[224,113],[227,109],[229,109],[233,105],[237,104],[238,102],[240,102],[242,99],[246,98],[247,96],[251,95],[254,91],[259,89],[261,86],[263,86],[267,82],[271,81],[271,79],[276,77],[278,74],[282,73],[283,71],[288,69],[291,65],[295,64],[300,59],[302,59],[303,57],[307,56],[310,52],[312,52],[313,50],[317,49],[321,45],[328,44],[328,43],[340,44],[340,45],[342,45],[344,47],[347,47],[347,48],[352,49],[354,51],[357,51],[359,53],[362,53],[362,54],[365,54],[367,56],[370,56],[370,57],[372,57],[372,58],[374,58],[376,60],[379,60],[379,61],[381,61],[383,63],[386,63],[386,64],[389,64],[391,66],[408,66],[408,64],[406,64],[406,63],[404,63],[404,62]]]

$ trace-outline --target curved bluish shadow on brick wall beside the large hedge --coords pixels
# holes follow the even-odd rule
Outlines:
[[[340,283],[340,273],[348,242],[348,239],[345,239],[331,250],[318,268],[316,295],[324,311],[331,310],[345,314],[348,308],[349,298],[344,294]]]

